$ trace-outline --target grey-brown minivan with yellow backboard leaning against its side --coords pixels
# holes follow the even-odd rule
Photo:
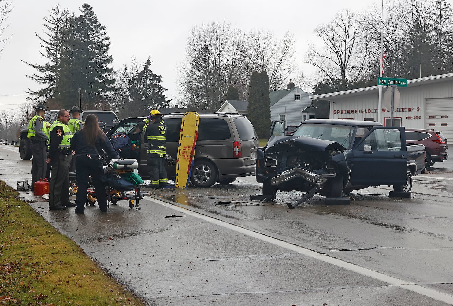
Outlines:
[[[198,140],[193,158],[190,180],[197,187],[210,187],[216,182],[230,184],[239,176],[255,175],[258,136],[247,117],[237,113],[200,113]],[[132,134],[145,117],[127,118],[114,126],[106,135],[110,138],[117,131]],[[183,114],[164,115],[167,125],[167,154],[177,158],[179,133]],[[139,174],[149,178],[146,160],[148,142],[140,133],[138,155]],[[139,138],[137,137],[137,138]],[[168,178],[174,179],[176,165],[166,165]]]

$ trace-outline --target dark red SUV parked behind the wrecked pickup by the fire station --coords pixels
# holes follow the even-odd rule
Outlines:
[[[419,143],[426,148],[426,168],[448,159],[447,138],[440,131],[406,130],[406,143]]]

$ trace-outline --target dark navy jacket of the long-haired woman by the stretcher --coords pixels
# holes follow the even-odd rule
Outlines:
[[[77,131],[71,138],[71,150],[76,151],[76,156],[83,154],[97,158],[97,155],[99,155],[99,158],[101,158],[103,151],[106,151],[110,158],[120,158],[104,133],[99,133],[95,146],[89,146],[83,134],[80,133],[82,130]]]

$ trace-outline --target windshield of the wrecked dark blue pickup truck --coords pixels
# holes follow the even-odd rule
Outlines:
[[[293,136],[306,136],[323,140],[337,141],[340,145],[348,148],[351,144],[353,131],[354,126],[306,123],[301,124],[299,128],[294,131]]]

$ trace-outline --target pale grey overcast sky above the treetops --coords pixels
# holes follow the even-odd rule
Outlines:
[[[39,39],[34,32],[42,34],[43,18],[57,4],[79,15],[79,7],[85,1],[12,1],[13,10],[6,23],[3,35],[11,38],[0,53],[0,111],[14,110],[26,103],[24,90],[38,90],[40,85],[26,75],[35,69],[21,62],[45,63],[39,55]],[[451,2],[452,0],[450,0]],[[151,57],[151,70],[162,75],[162,85],[168,89],[168,98],[178,97],[176,66],[184,58],[184,46],[188,32],[193,26],[223,20],[244,31],[269,29],[280,38],[286,31],[294,34],[297,64],[304,74],[313,68],[304,64],[307,41],[314,40],[313,30],[320,23],[330,21],[339,10],[350,8],[361,11],[381,1],[376,0],[318,0],[318,1],[270,1],[270,0],[90,0],[101,24],[110,36],[110,53],[115,69],[130,64],[135,56],[143,63]],[[1,46],[0,46],[1,49]],[[294,77],[292,77],[294,78]],[[8,95],[8,96],[7,96]],[[23,95],[23,96],[10,96]]]

